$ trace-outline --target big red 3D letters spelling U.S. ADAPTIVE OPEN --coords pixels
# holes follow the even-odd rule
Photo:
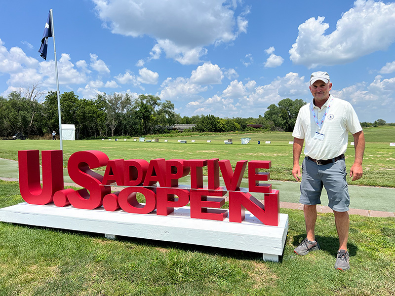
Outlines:
[[[19,184],[23,199],[30,204],[54,203],[58,207],[72,205],[93,210],[103,206],[106,211],[122,209],[128,213],[167,216],[174,208],[190,203],[190,216],[194,219],[223,221],[229,214],[230,222],[242,222],[245,209],[266,225],[279,222],[279,191],[272,190],[268,181],[271,161],[237,161],[233,171],[229,160],[214,159],[113,159],[97,150],[78,151],[68,161],[70,178],[82,189],[64,189],[62,150],[41,151],[42,187],[40,184],[39,150],[18,151]],[[248,192],[240,188],[248,164]],[[106,166],[104,176],[91,169]],[[203,167],[207,167],[208,185],[203,186]],[[225,187],[220,186],[220,172]],[[190,174],[191,185],[179,185],[180,178]],[[111,192],[110,184],[125,186]],[[229,193],[229,211],[220,209]],[[249,192],[264,194],[264,204]],[[146,203],[137,201],[137,193],[144,195]],[[177,197],[176,197],[177,196]]]

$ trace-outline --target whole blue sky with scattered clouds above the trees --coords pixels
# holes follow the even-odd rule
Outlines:
[[[360,121],[395,122],[395,1],[62,0],[0,4],[0,95],[39,83],[60,92],[153,94],[181,116],[257,117],[309,102],[327,71]]]

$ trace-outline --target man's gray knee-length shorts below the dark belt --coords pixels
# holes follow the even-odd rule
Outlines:
[[[329,198],[329,208],[336,212],[347,212],[350,205],[350,194],[346,175],[344,158],[333,163],[318,165],[305,157],[302,163],[299,202],[305,205],[320,204],[322,186],[325,186]]]

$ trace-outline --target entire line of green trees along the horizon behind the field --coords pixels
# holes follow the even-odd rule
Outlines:
[[[39,136],[59,130],[56,92],[50,91],[42,102],[40,88],[34,85],[24,94],[11,92],[6,98],[0,96],[0,136],[8,137],[22,132],[28,137]],[[176,132],[174,124],[195,124],[197,132],[236,132],[256,130],[249,125],[261,125],[263,131],[293,130],[303,100],[284,99],[272,104],[258,118],[220,118],[211,114],[183,116],[174,111],[174,105],[157,96],[129,94],[97,94],[95,100],[79,99],[73,92],[60,95],[63,124],[75,124],[77,139],[119,136],[142,136]],[[382,119],[374,123],[362,122],[363,127],[384,125]]]

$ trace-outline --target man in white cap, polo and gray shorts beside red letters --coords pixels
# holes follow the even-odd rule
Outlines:
[[[314,72],[311,75],[310,91],[313,101],[299,110],[292,133],[294,137],[292,175],[297,181],[300,181],[301,177],[299,158],[303,142],[306,140],[299,202],[304,205],[307,237],[294,252],[298,255],[306,255],[320,248],[315,237],[316,205],[321,203],[320,195],[324,186],[339,236],[335,268],[347,270],[350,268],[347,251],[350,195],[346,181],[344,153],[350,132],[354,136],[355,143],[355,160],[350,169],[350,177],[353,177],[353,181],[358,180],[362,177],[365,138],[351,104],[334,98],[329,93],[331,88],[332,83],[328,73]]]

